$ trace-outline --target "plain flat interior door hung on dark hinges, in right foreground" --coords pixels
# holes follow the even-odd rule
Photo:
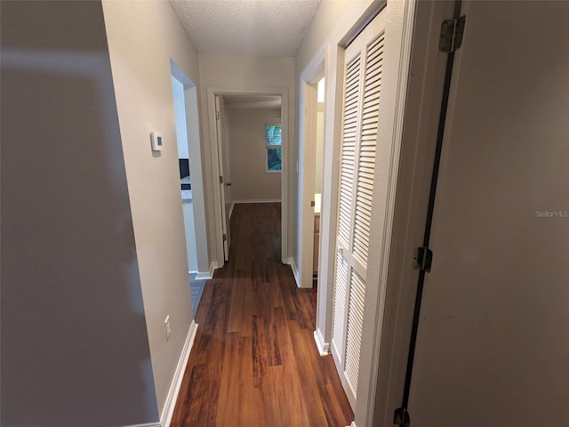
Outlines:
[[[473,1],[462,12],[411,423],[562,425],[569,3]]]

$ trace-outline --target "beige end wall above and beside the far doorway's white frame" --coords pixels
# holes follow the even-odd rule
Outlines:
[[[204,135],[204,158],[205,165],[208,168],[205,174],[206,189],[208,194],[212,194],[212,169],[210,165],[211,144],[215,143],[209,131],[209,117],[207,116],[207,87],[227,87],[244,89],[245,93],[248,88],[264,88],[264,89],[280,89],[288,90],[289,98],[289,163],[288,167],[288,187],[292,193],[289,196],[293,200],[296,196],[293,186],[293,175],[296,173],[295,164],[291,160],[294,157],[293,146],[293,111],[294,111],[294,58],[292,57],[252,57],[252,56],[236,56],[236,55],[213,55],[199,54],[199,70],[200,82],[202,88],[201,108],[202,115],[202,131]],[[216,184],[217,185],[217,184]],[[293,203],[289,203],[288,217],[289,221],[288,240],[290,241],[293,233]],[[213,200],[207,205],[208,217],[213,217]],[[210,230],[209,242],[214,247],[214,231]],[[289,248],[290,252],[290,248]],[[289,254],[290,256],[290,254]],[[222,259],[222,254],[212,253],[212,257]]]

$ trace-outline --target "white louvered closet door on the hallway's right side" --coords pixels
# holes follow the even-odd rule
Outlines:
[[[384,14],[357,36],[345,55],[332,353],[352,407],[364,319]]]

